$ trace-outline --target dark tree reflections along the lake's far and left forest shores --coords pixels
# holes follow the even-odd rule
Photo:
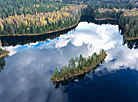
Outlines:
[[[79,22],[83,22],[83,21],[87,21],[88,23],[92,22],[95,24],[114,24],[114,25],[118,25],[118,21],[114,21],[114,20],[102,20],[102,21],[97,21],[94,20],[94,18],[92,16],[82,16],[80,18]],[[77,25],[76,25],[77,26]],[[54,39],[59,37],[62,34],[66,34],[67,32],[71,31],[71,30],[75,30],[76,26],[63,30],[63,31],[59,31],[59,32],[54,32],[51,34],[44,34],[44,35],[36,35],[36,36],[1,36],[0,39],[2,41],[3,46],[16,46],[17,44],[20,45],[24,45],[27,43],[34,43],[34,42],[39,42],[39,41],[46,41],[47,39]]]

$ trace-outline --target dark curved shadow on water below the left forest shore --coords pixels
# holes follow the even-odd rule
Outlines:
[[[77,25],[76,25],[77,26]],[[36,41],[46,41],[47,39],[54,39],[59,37],[62,34],[67,33],[70,30],[73,30],[76,28],[76,26],[63,30],[63,31],[58,31],[54,32],[51,34],[44,34],[44,35],[36,35],[36,36],[3,36],[0,37],[2,41],[2,46],[16,46],[17,44],[24,45],[27,43],[35,43]]]

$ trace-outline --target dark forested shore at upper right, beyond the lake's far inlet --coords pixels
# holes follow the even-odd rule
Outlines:
[[[138,3],[128,0],[118,5],[117,2],[110,5],[108,3],[91,4],[83,10],[82,15],[91,15],[95,20],[118,20],[126,40],[138,39]]]

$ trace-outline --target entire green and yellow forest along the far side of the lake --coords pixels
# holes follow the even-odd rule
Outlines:
[[[0,0],[0,36],[60,31],[77,24],[82,15],[118,20],[124,38],[138,38],[138,2],[134,0]]]

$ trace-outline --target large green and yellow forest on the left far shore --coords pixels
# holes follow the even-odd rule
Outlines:
[[[60,30],[76,24],[85,7],[84,4],[52,0],[1,0],[0,34],[36,34]]]

